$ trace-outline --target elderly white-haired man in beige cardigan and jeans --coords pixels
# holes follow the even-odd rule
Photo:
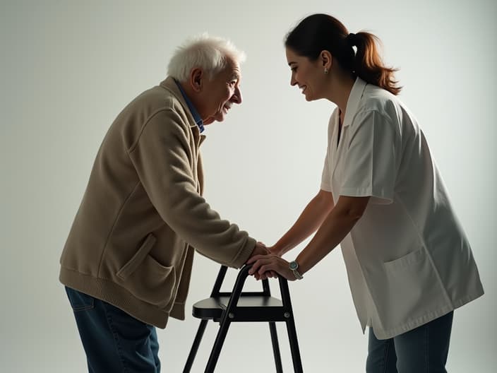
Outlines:
[[[90,372],[159,372],[155,326],[184,319],[193,248],[235,268],[267,253],[201,196],[203,126],[241,103],[243,59],[221,38],[186,42],[102,142],[60,272]]]

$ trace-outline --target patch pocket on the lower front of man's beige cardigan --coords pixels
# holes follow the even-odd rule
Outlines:
[[[163,266],[151,255],[157,239],[150,234],[136,252],[117,272],[122,286],[139,300],[164,308],[169,304],[176,285],[174,266]]]

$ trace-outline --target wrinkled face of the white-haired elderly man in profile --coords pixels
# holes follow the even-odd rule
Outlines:
[[[241,104],[240,78],[239,64],[228,59],[224,70],[205,79],[200,112],[204,124],[222,122],[233,104]]]

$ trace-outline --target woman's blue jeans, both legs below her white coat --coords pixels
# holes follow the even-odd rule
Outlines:
[[[366,373],[446,373],[454,312],[390,339],[369,328]]]

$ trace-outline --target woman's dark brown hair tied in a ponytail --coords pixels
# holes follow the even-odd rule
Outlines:
[[[327,50],[352,76],[359,76],[367,83],[398,95],[402,87],[395,80],[397,69],[383,65],[376,45],[379,42],[378,37],[369,32],[349,34],[340,20],[328,14],[313,14],[289,32],[285,47],[311,61],[316,61],[319,54]],[[357,47],[357,52],[354,47]]]

